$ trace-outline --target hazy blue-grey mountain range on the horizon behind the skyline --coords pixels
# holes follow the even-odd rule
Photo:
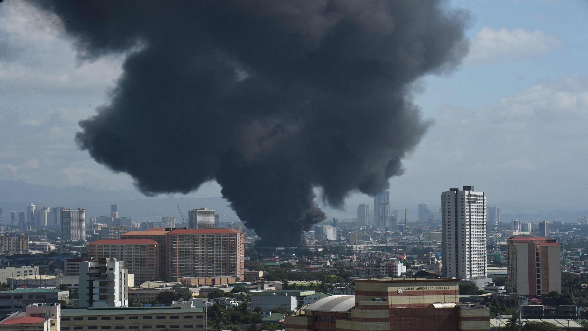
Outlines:
[[[338,210],[329,206],[320,207],[328,216],[339,220],[351,219],[357,216],[357,203],[369,203],[370,201],[359,201],[350,199],[347,201],[345,210]],[[3,207],[4,224],[10,223],[10,212],[18,213],[25,211],[25,206],[35,204],[37,207],[67,207],[85,208],[88,219],[92,216],[108,215],[111,204],[118,205],[119,216],[132,217],[133,221],[142,223],[144,221],[161,221],[165,215],[174,216],[180,220],[178,208],[182,208],[184,217],[188,217],[188,210],[206,207],[214,209],[220,216],[221,222],[237,222],[239,217],[229,207],[228,201],[222,197],[209,198],[173,198],[143,196],[138,191],[92,191],[83,187],[58,188],[28,184],[22,180],[0,180],[0,206]],[[513,211],[515,211],[513,213]],[[509,213],[503,211],[502,221],[508,222],[511,219],[520,219],[527,222],[540,220],[558,220],[566,223],[576,221],[576,217],[588,216],[588,210],[554,210],[547,213],[529,212],[523,209],[516,213],[516,208],[509,208]],[[399,210],[400,217],[404,217],[404,210]],[[407,210],[409,221],[416,221],[418,211],[416,208]]]

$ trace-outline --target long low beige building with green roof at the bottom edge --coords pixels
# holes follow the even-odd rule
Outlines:
[[[204,331],[202,308],[191,307],[101,307],[64,309],[61,330],[179,329]]]

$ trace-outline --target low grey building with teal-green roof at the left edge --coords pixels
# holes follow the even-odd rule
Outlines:
[[[0,315],[25,309],[32,303],[66,303],[69,291],[53,289],[14,289],[0,292]]]

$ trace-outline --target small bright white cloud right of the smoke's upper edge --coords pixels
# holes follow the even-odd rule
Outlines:
[[[468,64],[515,62],[552,51],[565,44],[562,39],[548,35],[541,30],[533,32],[524,29],[495,30],[482,28],[472,39]]]

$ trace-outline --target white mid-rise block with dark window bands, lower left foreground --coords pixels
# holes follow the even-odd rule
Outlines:
[[[79,263],[78,307],[128,307],[129,272],[112,258]]]

